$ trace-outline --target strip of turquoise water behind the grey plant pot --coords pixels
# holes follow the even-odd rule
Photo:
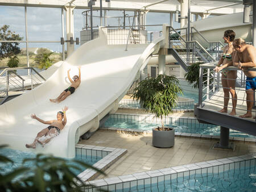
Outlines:
[[[203,123],[185,123],[183,119],[177,119],[177,122],[174,123],[165,123],[167,127],[173,127],[175,132],[184,132],[184,133],[197,133],[201,135],[220,135],[220,126],[215,126],[212,124],[203,124]],[[130,118],[112,118],[110,117],[105,122],[105,127],[117,127],[117,128],[132,128],[134,130],[144,130],[151,131],[152,128],[160,126],[160,123],[146,123],[142,121],[137,121]],[[251,137],[256,138],[255,136],[247,135],[246,133],[238,132],[231,130],[229,132],[230,137]]]

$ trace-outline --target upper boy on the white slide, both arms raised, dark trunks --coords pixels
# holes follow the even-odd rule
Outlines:
[[[79,66],[79,76],[74,76],[73,80],[71,79],[71,77],[69,76],[69,72],[71,69],[68,70],[68,79],[71,82],[71,86],[68,87],[68,89],[65,89],[60,95],[59,97],[57,97],[56,99],[49,99],[49,101],[51,102],[55,102],[55,103],[59,103],[61,101],[63,101],[65,98],[68,97],[68,95],[71,95],[72,93],[75,92],[75,89],[77,87],[79,87],[80,83],[81,83],[81,67]]]

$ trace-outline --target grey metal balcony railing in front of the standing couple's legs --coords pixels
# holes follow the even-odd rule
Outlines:
[[[233,78],[228,78],[221,76],[220,73],[214,71],[214,64],[202,64],[200,65],[200,78],[199,78],[199,107],[207,108],[210,110],[216,110],[222,112],[232,112],[232,109],[236,109],[236,115],[241,116],[250,113],[253,113],[255,116],[255,91],[246,90],[245,80],[237,80]],[[225,70],[240,70],[234,66],[229,66]],[[256,68],[248,68],[247,72],[256,71]],[[229,80],[232,83],[233,88],[222,84],[222,81],[225,82]],[[239,82],[240,86],[236,86],[236,82]],[[254,80],[247,80],[247,84],[251,82],[255,84]],[[235,91],[235,92],[234,92]],[[231,94],[232,93],[232,94]],[[236,93],[236,94],[234,94]],[[230,97],[229,95],[233,95]],[[224,100],[225,105],[224,105]],[[227,103],[228,104],[227,104]],[[247,106],[249,104],[249,106]],[[253,107],[251,109],[251,107]],[[231,115],[234,115],[233,112]],[[243,117],[243,116],[241,116]]]

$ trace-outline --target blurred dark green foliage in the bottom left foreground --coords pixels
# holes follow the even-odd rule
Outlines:
[[[0,145],[0,149],[3,147],[6,145]],[[68,165],[70,160],[38,154],[35,158],[23,160],[23,163],[26,161],[31,161],[34,166],[16,168],[7,174],[2,174],[0,169],[0,191],[83,191],[85,184],[71,171],[79,168],[76,165]],[[102,173],[82,161],[71,161]],[[0,155],[0,163],[13,161]]]

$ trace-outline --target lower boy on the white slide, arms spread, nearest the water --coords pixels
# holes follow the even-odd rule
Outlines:
[[[42,119],[39,119],[35,114],[31,114],[32,119],[36,119],[44,124],[49,124],[49,126],[40,131],[36,136],[34,142],[31,144],[26,144],[26,147],[35,149],[37,143],[40,143],[44,147],[44,145],[48,143],[53,137],[59,135],[60,131],[63,130],[65,124],[67,123],[67,110],[68,107],[65,106],[62,111],[57,112],[57,120],[44,121]]]

